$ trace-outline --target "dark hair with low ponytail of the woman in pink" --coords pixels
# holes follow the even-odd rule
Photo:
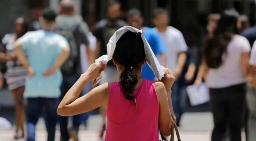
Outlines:
[[[116,43],[113,59],[125,67],[120,75],[122,92],[126,99],[134,101],[135,104],[134,87],[138,82],[136,70],[141,69],[138,64],[145,60],[145,56],[141,34],[127,31]]]

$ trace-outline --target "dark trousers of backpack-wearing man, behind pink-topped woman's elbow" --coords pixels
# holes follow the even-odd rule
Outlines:
[[[63,99],[65,94],[68,92],[68,90],[75,84],[78,78],[79,78],[78,75],[63,76],[63,82],[60,87],[61,89],[60,101]],[[72,118],[73,118],[73,127],[78,130],[81,124],[81,114],[75,115]],[[59,122],[60,122],[61,138],[64,141],[68,141],[70,139],[68,134],[68,116],[60,116]]]

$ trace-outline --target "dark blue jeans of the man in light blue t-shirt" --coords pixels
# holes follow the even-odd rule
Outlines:
[[[45,124],[48,133],[47,141],[54,141],[57,119],[57,107],[58,98],[27,98],[27,141],[35,141],[35,127],[42,108],[44,108],[45,110]]]

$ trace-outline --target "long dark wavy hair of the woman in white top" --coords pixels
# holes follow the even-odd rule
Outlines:
[[[223,63],[223,54],[232,36],[237,33],[238,12],[225,10],[214,31],[213,37],[207,37],[203,47],[203,59],[210,68],[218,68]]]

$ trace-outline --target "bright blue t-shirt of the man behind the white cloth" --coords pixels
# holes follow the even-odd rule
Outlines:
[[[161,40],[156,30],[150,27],[143,27],[142,34],[146,38],[147,42],[149,43],[152,51],[154,52],[154,55],[157,56],[157,54],[159,53],[166,52],[166,47],[164,45],[164,42]],[[147,63],[145,63],[142,66],[141,77],[149,80],[154,80],[156,77]]]

